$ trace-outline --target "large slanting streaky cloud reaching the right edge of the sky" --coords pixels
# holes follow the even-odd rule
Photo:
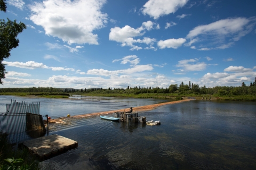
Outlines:
[[[256,18],[228,18],[207,25],[199,25],[189,31],[187,39],[198,41],[209,41],[215,47],[203,47],[201,50],[229,48],[247,33],[251,32],[256,23]],[[231,37],[231,38],[230,38]],[[196,43],[191,41],[189,45]],[[221,44],[221,45],[220,45]],[[218,46],[217,46],[218,45]]]

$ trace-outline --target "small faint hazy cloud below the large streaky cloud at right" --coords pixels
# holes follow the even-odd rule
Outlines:
[[[197,60],[195,59],[190,59],[190,60],[181,60],[178,62],[176,65],[177,67],[182,67],[182,70],[185,71],[202,71],[205,70],[207,64],[204,62],[202,63],[195,63]]]

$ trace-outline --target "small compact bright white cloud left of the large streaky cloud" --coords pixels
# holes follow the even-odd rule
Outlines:
[[[183,43],[186,42],[186,39],[184,38],[179,38],[179,39],[167,39],[167,40],[160,40],[158,41],[157,45],[160,49],[163,48],[174,48],[177,49],[178,47],[180,47]]]

